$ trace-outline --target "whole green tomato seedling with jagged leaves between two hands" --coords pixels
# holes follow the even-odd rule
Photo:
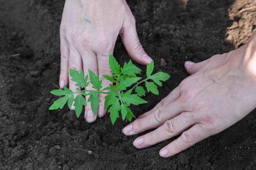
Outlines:
[[[89,70],[90,82],[88,82],[88,75],[84,76],[84,72],[81,70],[76,71],[69,69],[70,77],[72,81],[77,82],[76,86],[81,87],[81,89],[76,92],[71,91],[67,87],[63,89],[53,90],[50,93],[56,96],[63,96],[53,102],[49,110],[54,110],[58,108],[63,108],[67,103],[68,107],[71,108],[72,105],[75,106],[76,116],[79,117],[82,111],[83,106],[87,105],[87,102],[90,102],[93,114],[97,114],[99,102],[99,94],[107,94],[105,96],[105,109],[108,109],[110,113],[110,119],[112,124],[116,122],[116,119],[119,118],[119,113],[122,115],[122,120],[129,120],[134,116],[132,111],[128,108],[131,104],[139,105],[147,103],[144,99],[140,98],[145,96],[145,89],[141,86],[145,83],[146,90],[153,94],[158,95],[157,85],[162,86],[160,81],[166,81],[170,78],[169,74],[164,72],[158,72],[152,74],[154,70],[154,62],[152,61],[147,65],[146,78],[141,80],[141,77],[137,77],[137,74],[140,74],[140,68],[137,68],[132,64],[131,60],[127,63],[125,62],[123,67],[120,67],[116,59],[110,54],[109,56],[109,65],[111,69],[112,76],[104,75],[103,77],[109,80],[110,83],[108,87],[102,89],[102,80],[99,80],[99,76]],[[87,90],[86,87],[89,84],[92,84],[93,90]],[[135,85],[134,85],[135,84]],[[132,86],[133,85],[133,86]],[[77,94],[74,98],[74,94]],[[86,102],[85,96],[88,96],[88,101]]]

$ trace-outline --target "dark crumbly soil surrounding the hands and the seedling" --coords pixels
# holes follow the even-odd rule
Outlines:
[[[255,0],[128,0],[145,50],[157,71],[172,77],[160,95],[133,107],[153,108],[199,62],[247,42],[256,28]],[[138,150],[108,116],[88,124],[64,108],[49,111],[58,84],[58,28],[64,0],[0,0],[0,170],[255,170],[256,111],[215,136],[168,159],[169,141]],[[18,55],[16,55],[18,54]],[[114,55],[129,59],[121,40]],[[145,71],[145,66],[139,65]],[[88,154],[87,150],[92,151]]]

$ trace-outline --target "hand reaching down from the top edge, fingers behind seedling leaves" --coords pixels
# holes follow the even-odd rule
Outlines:
[[[88,74],[88,69],[99,74],[102,88],[110,83],[102,75],[110,75],[108,56],[113,54],[118,34],[121,35],[126,50],[134,61],[146,65],[152,61],[137,36],[135,19],[125,0],[66,0],[62,14],[61,73],[60,88],[69,84],[72,91],[77,91],[76,82],[71,81],[68,69],[81,70]],[[87,90],[93,90],[88,87]],[[98,116],[105,115],[105,95],[100,94]],[[88,97],[86,97],[88,100]],[[90,102],[85,107],[84,118],[87,122],[95,121]]]

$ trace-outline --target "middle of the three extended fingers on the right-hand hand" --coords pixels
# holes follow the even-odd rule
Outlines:
[[[133,144],[139,149],[149,147],[151,145],[157,144],[166,139],[170,139],[174,136],[179,135],[192,125],[195,125],[195,123],[197,122],[194,118],[194,113],[183,112],[175,118],[167,120],[162,126],[158,127],[156,130],[135,139]]]

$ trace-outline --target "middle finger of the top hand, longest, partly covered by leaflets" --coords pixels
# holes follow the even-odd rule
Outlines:
[[[93,51],[80,51],[82,55],[82,60],[83,60],[83,70],[84,70],[84,75],[89,75],[88,70],[90,69],[95,73],[96,75],[98,74],[98,69],[97,69],[97,58],[96,54]],[[88,77],[88,80],[90,81],[90,77]],[[93,90],[95,91],[95,88],[92,88],[92,84],[90,83],[87,86],[87,90]],[[86,101],[88,101],[89,96],[86,96]],[[90,102],[87,102],[87,105],[85,106],[85,112],[84,112],[84,119],[86,122],[91,123],[94,122],[97,118],[97,114],[93,114]]]

